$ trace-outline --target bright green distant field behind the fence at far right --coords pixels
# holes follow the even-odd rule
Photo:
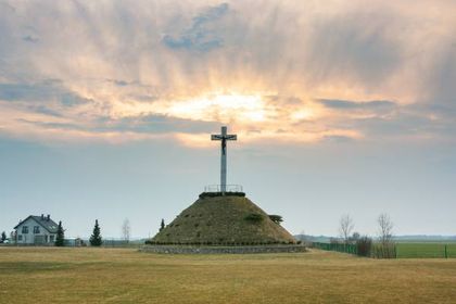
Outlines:
[[[446,251],[445,251],[446,246]],[[456,243],[406,242],[396,244],[397,257],[456,257]]]

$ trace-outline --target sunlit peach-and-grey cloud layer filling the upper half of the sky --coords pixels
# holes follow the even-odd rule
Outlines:
[[[280,142],[449,139],[455,128],[454,1],[0,8],[7,136],[200,144],[220,123]]]

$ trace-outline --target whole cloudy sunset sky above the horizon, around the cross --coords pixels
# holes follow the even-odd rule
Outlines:
[[[153,237],[219,182],[292,233],[456,235],[453,0],[0,0],[0,230]]]

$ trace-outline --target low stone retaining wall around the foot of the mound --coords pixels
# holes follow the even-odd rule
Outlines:
[[[306,252],[304,245],[244,245],[244,246],[197,246],[197,245],[143,245],[141,252],[167,254],[249,254]]]

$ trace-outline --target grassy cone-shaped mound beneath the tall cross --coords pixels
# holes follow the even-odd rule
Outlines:
[[[283,227],[273,221],[248,198],[203,194],[160,231],[152,239],[152,243],[271,244],[295,242]]]

